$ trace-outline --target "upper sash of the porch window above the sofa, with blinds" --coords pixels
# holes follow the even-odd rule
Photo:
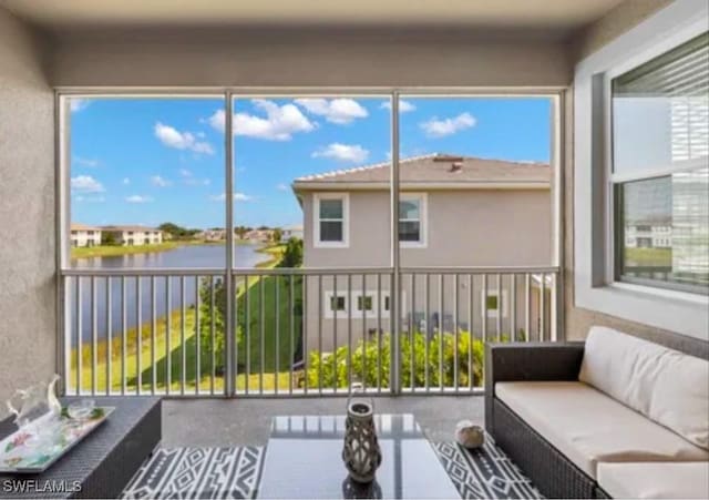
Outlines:
[[[709,33],[612,82],[614,173],[709,156]]]

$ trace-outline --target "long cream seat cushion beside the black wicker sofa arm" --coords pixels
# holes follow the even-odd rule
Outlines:
[[[593,478],[600,461],[709,460],[707,450],[583,382],[497,382],[495,395]]]

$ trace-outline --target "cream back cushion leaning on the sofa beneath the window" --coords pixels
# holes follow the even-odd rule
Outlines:
[[[594,326],[578,379],[709,449],[709,361]]]

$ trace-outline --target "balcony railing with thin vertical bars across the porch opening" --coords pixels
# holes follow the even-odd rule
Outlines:
[[[485,343],[556,339],[558,278],[556,267],[401,268],[395,290],[388,267],[234,269],[229,279],[223,269],[70,269],[65,390],[482,390]]]

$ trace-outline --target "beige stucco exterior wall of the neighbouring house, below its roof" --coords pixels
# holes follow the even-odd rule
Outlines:
[[[383,267],[390,265],[390,221],[389,192],[387,191],[351,191],[349,193],[349,247],[318,248],[314,246],[314,194],[302,195],[304,228],[305,228],[305,265],[306,267]],[[549,190],[477,190],[477,191],[430,191],[427,194],[428,235],[424,248],[401,248],[401,265],[440,267],[440,266],[549,266],[552,263],[552,200]],[[419,317],[429,314],[429,325],[433,325],[433,315],[445,315],[451,319],[444,327],[453,330],[452,322],[458,314],[459,326],[467,329],[472,320],[475,335],[482,335],[483,328],[483,284],[482,277],[475,276],[474,283],[469,283],[469,276],[459,278],[459,290],[455,294],[454,277],[448,275],[443,283],[443,304],[439,288],[440,275],[430,277],[430,289],[425,293],[425,282],[422,274],[417,275],[417,284],[411,286],[410,275],[404,276],[402,289],[404,304],[402,314],[408,324],[409,313],[414,312]],[[525,282],[524,275],[517,275],[516,284],[516,326],[515,330],[524,328],[525,318]],[[309,278],[306,308],[308,349],[321,346],[329,350],[336,344],[343,345],[349,338],[357,341],[362,334],[370,329],[389,330],[388,318],[379,324],[377,317],[362,322],[361,312],[354,312],[352,318],[346,314],[338,317],[336,331],[335,320],[326,317],[328,293],[335,289],[331,276],[322,277],[323,296],[319,298],[318,278]],[[374,297],[379,288],[377,275],[367,276],[368,292]],[[505,275],[500,285],[505,309],[512,307],[511,276]],[[337,290],[347,295],[352,290],[352,297],[360,295],[362,280],[360,275],[351,278],[338,276]],[[381,276],[382,297],[389,290],[388,275]],[[496,277],[489,277],[487,290],[496,289]],[[547,289],[548,293],[548,289]],[[537,292],[531,289],[530,297],[530,329],[531,337],[538,338],[537,317],[540,304]],[[458,297],[458,304],[455,303]],[[551,299],[545,304],[546,315],[549,314]],[[412,303],[413,298],[413,303]],[[425,305],[428,298],[428,306]],[[352,298],[356,300],[356,298]],[[376,298],[374,298],[376,300]],[[381,298],[383,304],[383,298]],[[473,314],[470,315],[470,304]],[[383,306],[382,306],[383,308]],[[440,317],[440,316],[439,316]],[[512,329],[512,314],[501,318],[500,331],[494,318],[487,319],[487,333],[508,335]],[[548,327],[548,320],[546,326]],[[349,329],[351,327],[351,330]],[[403,326],[408,328],[407,325]],[[546,335],[549,335],[548,329]]]

